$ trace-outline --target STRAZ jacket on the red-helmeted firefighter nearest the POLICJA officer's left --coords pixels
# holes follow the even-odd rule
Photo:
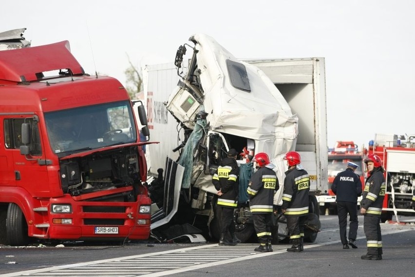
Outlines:
[[[301,165],[285,172],[283,205],[284,216],[300,217],[308,214],[310,178]]]

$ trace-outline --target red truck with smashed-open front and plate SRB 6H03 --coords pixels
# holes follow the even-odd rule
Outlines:
[[[23,47],[0,51],[0,99],[0,243],[150,236],[150,142],[118,80],[85,74],[68,41]]]

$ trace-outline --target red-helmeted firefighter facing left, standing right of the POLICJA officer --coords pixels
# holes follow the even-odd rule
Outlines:
[[[360,202],[360,214],[364,215],[363,230],[367,240],[367,254],[361,256],[367,260],[382,259],[382,235],[380,233],[380,215],[385,197],[384,169],[379,156],[369,154],[364,159],[368,178],[366,179],[363,199]]]

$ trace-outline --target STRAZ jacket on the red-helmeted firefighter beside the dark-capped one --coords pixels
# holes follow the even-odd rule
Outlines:
[[[275,172],[264,166],[251,177],[246,192],[249,196],[249,209],[253,214],[272,213],[274,193],[280,188]]]

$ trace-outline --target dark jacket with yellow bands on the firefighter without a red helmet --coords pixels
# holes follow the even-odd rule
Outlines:
[[[236,208],[239,192],[238,176],[239,167],[236,160],[229,157],[224,158],[212,178],[216,190],[221,190],[223,193],[218,197],[218,205]]]

